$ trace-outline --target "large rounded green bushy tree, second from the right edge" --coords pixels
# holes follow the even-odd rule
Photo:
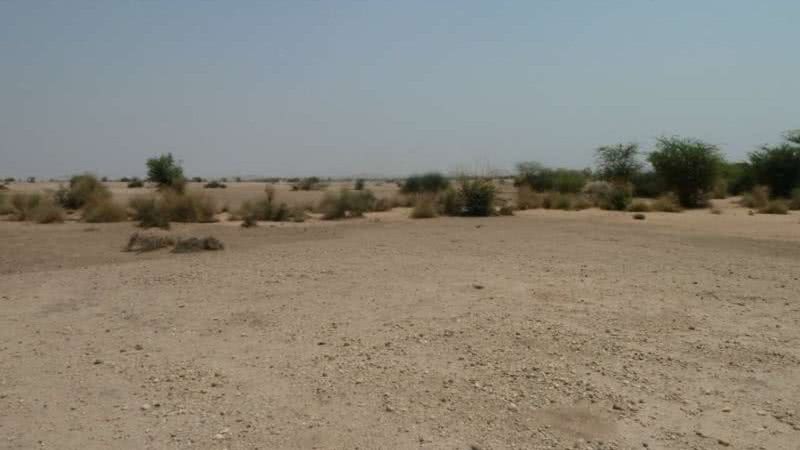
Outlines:
[[[716,146],[679,137],[659,138],[649,160],[680,204],[689,208],[706,203],[706,194],[713,188],[723,161]]]

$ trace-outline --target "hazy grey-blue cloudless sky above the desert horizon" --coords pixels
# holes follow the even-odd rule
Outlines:
[[[0,176],[583,168],[800,128],[796,0],[0,0]]]

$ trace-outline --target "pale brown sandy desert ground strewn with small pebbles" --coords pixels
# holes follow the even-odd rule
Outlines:
[[[0,221],[0,448],[797,449],[800,214],[718,206]]]

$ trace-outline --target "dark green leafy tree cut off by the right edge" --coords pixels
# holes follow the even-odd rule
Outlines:
[[[782,144],[763,146],[750,154],[755,181],[768,186],[776,197],[789,197],[800,187],[800,130],[786,133],[785,138]]]

